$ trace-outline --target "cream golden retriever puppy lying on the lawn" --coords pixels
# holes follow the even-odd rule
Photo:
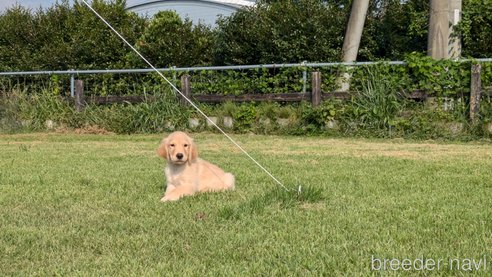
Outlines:
[[[198,158],[193,140],[184,132],[164,138],[157,154],[167,160],[167,187],[161,201],[175,201],[196,192],[234,189],[234,175]]]

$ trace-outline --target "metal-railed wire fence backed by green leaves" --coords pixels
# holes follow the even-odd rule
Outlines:
[[[470,59],[460,59],[457,63],[470,62]],[[492,58],[474,59],[478,63],[490,63]],[[404,61],[386,62],[329,62],[329,63],[285,63],[262,65],[235,65],[235,66],[201,66],[201,67],[169,67],[158,70],[172,80],[176,85],[180,83],[182,74],[192,76],[192,88],[202,94],[234,94],[241,93],[286,93],[303,92],[310,89],[310,72],[321,70],[324,74],[322,90],[336,91],[336,80],[341,71],[350,68],[367,67],[374,65],[390,67],[406,66]],[[0,90],[8,91],[13,87],[28,89],[30,86],[50,88],[60,94],[75,95],[75,80],[85,81],[85,90],[96,95],[125,95],[158,92],[165,89],[151,68],[144,69],[90,69],[90,70],[39,70],[0,72]],[[220,74],[217,74],[220,72]],[[267,72],[267,74],[265,74]],[[273,76],[278,74],[279,80]],[[144,77],[142,77],[144,76]],[[227,82],[236,80],[237,85],[228,85]],[[227,86],[225,88],[224,84]]]

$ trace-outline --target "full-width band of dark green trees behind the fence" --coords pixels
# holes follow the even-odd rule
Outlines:
[[[214,29],[174,12],[144,18],[124,0],[92,6],[159,67],[340,60],[352,0],[259,0]],[[84,4],[61,0],[0,13],[0,70],[145,67]],[[371,0],[358,60],[403,60],[425,53],[428,0]],[[492,0],[463,0],[463,55],[492,56]]]

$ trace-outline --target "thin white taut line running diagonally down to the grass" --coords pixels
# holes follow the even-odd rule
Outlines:
[[[215,122],[213,122],[200,108],[198,108],[193,101],[191,101],[188,97],[186,97],[173,83],[171,83],[157,68],[155,68],[140,52],[138,52],[135,47],[133,47],[118,31],[116,31],[111,24],[109,24],[96,10],[94,10],[85,0],[82,0],[82,2],[95,14],[97,17],[99,17],[118,37],[120,37],[126,45],[128,45],[142,60],[145,61],[159,76],[162,77],[177,93],[179,93],[193,108],[195,108],[205,119],[210,122],[217,130],[219,130],[226,138],[228,138],[239,150],[241,150],[248,158],[250,158],[258,167],[260,167],[268,176],[270,176],[277,184],[279,184],[283,189],[289,190],[287,187],[282,184],[275,176],[273,176],[272,173],[270,173],[265,167],[263,167],[259,162],[257,162],[246,150],[244,150],[234,139],[232,139],[226,132],[224,132]]]

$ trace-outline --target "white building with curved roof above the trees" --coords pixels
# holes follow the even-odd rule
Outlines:
[[[181,18],[215,26],[219,15],[229,16],[241,7],[253,6],[254,0],[128,0],[127,9],[153,16],[162,10],[174,10]]]

